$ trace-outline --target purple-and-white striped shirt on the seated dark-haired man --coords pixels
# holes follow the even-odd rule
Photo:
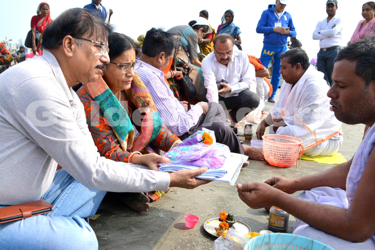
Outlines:
[[[165,126],[177,136],[189,131],[203,114],[202,107],[191,105],[189,111],[186,111],[183,103],[177,100],[172,90],[167,87],[164,73],[144,61],[137,61],[142,63],[137,74],[150,92]]]

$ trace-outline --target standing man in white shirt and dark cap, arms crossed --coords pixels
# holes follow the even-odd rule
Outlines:
[[[317,68],[324,73],[324,79],[331,87],[333,85],[332,73],[336,55],[339,53],[342,38],[342,21],[336,16],[337,0],[328,0],[326,3],[327,18],[319,21],[312,33],[312,39],[320,40]]]

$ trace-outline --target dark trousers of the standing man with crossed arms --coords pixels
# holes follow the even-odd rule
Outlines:
[[[327,84],[330,87],[333,85],[332,73],[337,54],[339,54],[339,49],[318,52],[317,69],[324,73],[324,80],[327,81]]]

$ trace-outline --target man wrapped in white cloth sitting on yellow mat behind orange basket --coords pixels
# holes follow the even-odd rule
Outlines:
[[[288,135],[303,140],[305,154],[332,156],[343,142],[341,122],[330,111],[329,87],[323,73],[309,63],[301,48],[281,54],[280,73],[287,84],[281,86],[280,97],[257,131],[262,139],[266,127],[270,134]]]

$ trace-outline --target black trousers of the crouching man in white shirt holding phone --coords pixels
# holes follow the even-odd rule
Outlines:
[[[196,100],[198,102],[208,102],[207,89],[200,88],[196,94]],[[223,109],[231,109],[231,115],[234,122],[242,120],[248,113],[258,108],[259,96],[250,91],[249,89],[241,91],[238,96],[232,97],[221,97],[219,96],[219,103],[223,106]]]

